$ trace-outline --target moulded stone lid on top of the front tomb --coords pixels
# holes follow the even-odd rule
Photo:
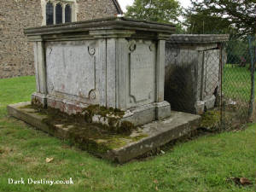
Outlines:
[[[26,28],[24,30],[24,33],[27,36],[35,36],[47,34],[60,34],[67,32],[86,32],[94,30],[133,30],[173,34],[175,32],[175,25],[163,24],[146,20],[134,20],[130,18],[114,16],[60,25]]]

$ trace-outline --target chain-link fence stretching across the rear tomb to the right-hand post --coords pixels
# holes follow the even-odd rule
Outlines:
[[[253,117],[255,38],[173,35],[166,42],[165,100],[202,114],[201,126],[242,125]]]

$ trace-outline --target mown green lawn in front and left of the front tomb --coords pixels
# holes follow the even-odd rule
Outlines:
[[[30,100],[33,77],[0,79],[0,191],[254,191],[255,124],[245,131],[199,137],[166,146],[166,154],[123,166],[98,159],[9,118],[9,103]],[[50,163],[45,158],[53,157]],[[66,179],[73,185],[10,185],[8,178]],[[247,177],[238,187],[226,178]]]

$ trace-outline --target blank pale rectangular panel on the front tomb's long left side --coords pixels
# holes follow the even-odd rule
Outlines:
[[[96,49],[90,44],[93,42],[47,44],[49,94],[90,98],[91,91],[96,89]]]

